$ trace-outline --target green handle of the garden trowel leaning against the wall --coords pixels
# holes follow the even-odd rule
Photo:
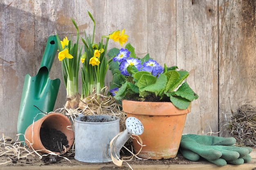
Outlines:
[[[50,72],[57,49],[58,49],[58,43],[57,43],[56,35],[49,36],[46,43],[45,52],[43,54],[40,68],[43,66],[46,66]]]

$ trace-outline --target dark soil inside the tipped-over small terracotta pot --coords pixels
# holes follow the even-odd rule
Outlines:
[[[65,150],[63,146],[66,148],[70,147],[68,146],[67,136],[56,129],[42,127],[40,129],[40,139],[43,146],[52,152]]]

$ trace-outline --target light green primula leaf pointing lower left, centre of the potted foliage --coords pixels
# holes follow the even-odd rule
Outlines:
[[[161,92],[166,85],[167,82],[167,76],[164,74],[160,74],[160,76],[157,78],[157,81],[154,84],[147,85],[141,91],[148,91],[148,92],[154,92],[156,95]]]

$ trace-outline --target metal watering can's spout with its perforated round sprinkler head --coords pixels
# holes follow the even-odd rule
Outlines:
[[[114,140],[112,147],[112,155],[119,153],[124,144],[128,141],[132,134],[141,135],[144,131],[144,127],[139,119],[135,117],[129,117],[126,119],[126,129]]]

